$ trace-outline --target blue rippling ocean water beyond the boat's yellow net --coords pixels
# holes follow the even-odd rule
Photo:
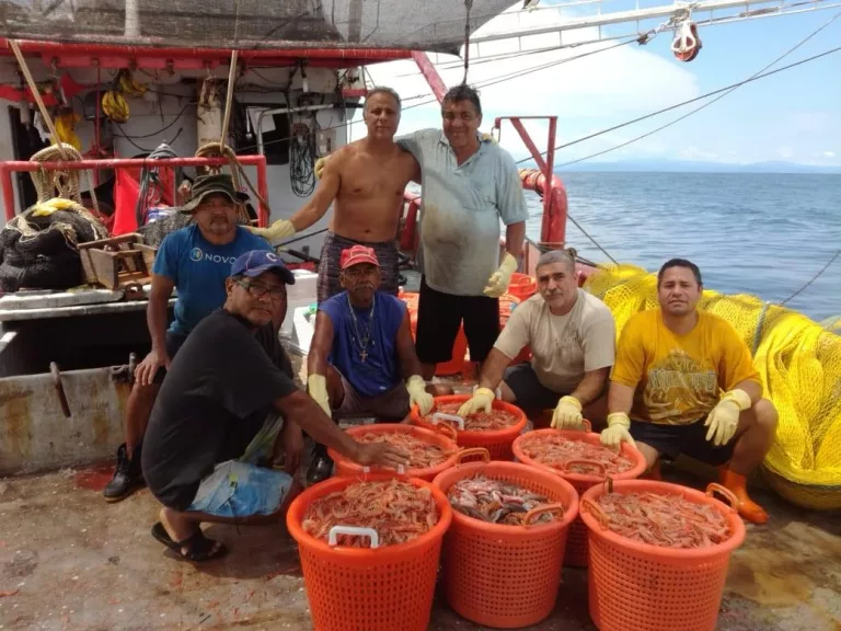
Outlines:
[[[561,173],[569,215],[617,261],[655,272],[673,256],[704,285],[780,302],[841,250],[841,175]],[[540,238],[542,205],[527,193],[527,234]],[[607,262],[567,221],[566,241]],[[841,316],[841,255],[787,303],[820,321]]]

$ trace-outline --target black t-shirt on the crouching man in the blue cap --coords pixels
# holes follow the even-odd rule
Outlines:
[[[270,324],[254,331],[223,309],[205,318],[172,360],[143,437],[151,492],[164,506],[186,509],[201,479],[242,456],[272,402],[295,390]]]

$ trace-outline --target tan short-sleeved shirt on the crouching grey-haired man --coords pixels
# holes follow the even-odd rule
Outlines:
[[[617,325],[608,306],[579,288],[565,316],[553,316],[540,294],[518,305],[494,347],[514,358],[529,345],[540,382],[568,394],[585,372],[613,366],[615,341]]]

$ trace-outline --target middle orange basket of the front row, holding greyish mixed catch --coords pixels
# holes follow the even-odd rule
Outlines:
[[[578,495],[562,478],[516,462],[459,464],[439,474],[435,485],[446,494],[456,482],[474,474],[545,495],[553,504],[540,513],[561,504],[564,516],[549,524],[502,526],[453,510],[441,555],[447,601],[460,616],[479,624],[498,629],[537,624],[555,607],[566,537],[578,514]]]

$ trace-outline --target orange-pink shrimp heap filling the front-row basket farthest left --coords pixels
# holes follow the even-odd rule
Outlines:
[[[356,482],[315,500],[301,527],[316,539],[327,540],[333,526],[373,528],[380,548],[412,541],[438,524],[438,507],[429,489],[407,482]],[[339,535],[338,546],[367,548],[367,537]]]

